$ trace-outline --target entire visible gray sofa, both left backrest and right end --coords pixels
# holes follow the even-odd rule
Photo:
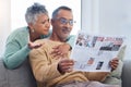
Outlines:
[[[122,87],[131,87],[131,60],[123,61],[122,69]],[[5,69],[0,59],[0,87],[37,87],[36,80],[26,60],[15,70]]]

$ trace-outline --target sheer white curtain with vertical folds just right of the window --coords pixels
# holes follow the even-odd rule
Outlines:
[[[99,32],[99,0],[82,0],[82,29],[91,34]],[[94,26],[95,25],[95,26]]]

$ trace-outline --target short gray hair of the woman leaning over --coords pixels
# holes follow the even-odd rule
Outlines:
[[[35,24],[35,22],[37,21],[37,16],[41,13],[48,15],[48,11],[46,10],[45,5],[34,3],[33,5],[28,7],[25,13],[26,23]]]

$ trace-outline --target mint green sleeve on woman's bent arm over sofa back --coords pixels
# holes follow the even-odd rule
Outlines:
[[[17,38],[17,39],[16,39]],[[15,69],[20,66],[28,55],[31,49],[26,46],[21,46],[23,39],[9,38],[5,45],[5,51],[3,54],[3,62],[8,69]]]

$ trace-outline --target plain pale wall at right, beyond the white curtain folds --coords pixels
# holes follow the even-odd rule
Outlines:
[[[126,59],[131,59],[131,0],[100,0],[99,33],[127,37]]]

